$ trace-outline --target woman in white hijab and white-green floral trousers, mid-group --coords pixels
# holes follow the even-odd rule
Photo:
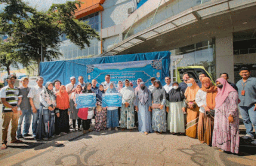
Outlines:
[[[130,81],[125,80],[125,87],[121,89],[120,93],[122,94],[122,108],[121,108],[121,122],[120,127],[122,131],[125,128],[133,130],[134,127],[134,107],[133,102],[135,98],[135,93],[132,87],[130,86]]]

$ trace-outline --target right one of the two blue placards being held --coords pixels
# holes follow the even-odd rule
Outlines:
[[[105,93],[102,94],[102,107],[122,107],[121,93]]]

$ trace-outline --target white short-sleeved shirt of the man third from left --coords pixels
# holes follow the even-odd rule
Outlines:
[[[32,87],[29,91],[28,98],[32,98],[35,105],[35,109],[40,109],[40,93],[44,89],[44,86],[39,87],[38,85]]]

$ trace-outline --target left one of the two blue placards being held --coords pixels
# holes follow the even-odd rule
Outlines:
[[[96,93],[76,94],[76,109],[96,107]]]

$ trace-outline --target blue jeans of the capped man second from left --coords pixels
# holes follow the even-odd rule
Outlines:
[[[31,112],[32,110],[22,110],[22,115],[18,120],[17,136],[22,136],[29,133],[29,127],[31,122]],[[24,128],[23,128],[23,133],[21,134],[21,124],[24,116],[25,116]]]

